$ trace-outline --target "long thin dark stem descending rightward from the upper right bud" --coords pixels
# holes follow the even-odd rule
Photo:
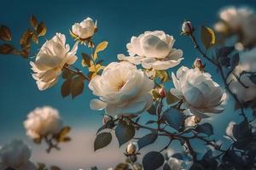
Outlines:
[[[195,45],[194,48],[196,48],[196,49],[199,51],[199,53],[200,53],[205,59],[207,59],[208,61],[210,61],[210,62],[212,63],[212,65],[215,65],[215,66],[218,68],[218,71],[220,72],[220,76],[221,76],[221,78],[222,78],[222,80],[223,80],[223,82],[224,82],[225,88],[226,88],[227,91],[231,94],[231,96],[236,100],[236,103],[240,106],[240,109],[241,109],[241,116],[243,116],[243,118],[244,118],[245,120],[247,120],[247,116],[245,115],[245,113],[244,113],[244,111],[243,111],[243,105],[241,105],[241,102],[240,102],[239,99],[237,98],[236,94],[233,94],[233,93],[232,93],[232,91],[230,90],[229,84],[226,82],[227,77],[225,77],[225,75],[224,75],[224,70],[223,70],[222,66],[219,65],[218,63],[214,62],[210,57],[207,56],[206,53],[204,53],[204,52],[202,51],[202,49],[200,48],[200,46],[199,46],[198,43],[196,42],[195,37],[194,37],[193,34],[191,34],[189,37],[191,38],[191,41],[192,41],[192,42],[194,43],[194,45]]]

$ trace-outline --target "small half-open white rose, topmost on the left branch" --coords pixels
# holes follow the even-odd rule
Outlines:
[[[90,17],[87,17],[82,22],[75,23],[72,26],[73,34],[79,37],[80,39],[87,39],[92,37],[95,31],[96,31],[96,24]]]

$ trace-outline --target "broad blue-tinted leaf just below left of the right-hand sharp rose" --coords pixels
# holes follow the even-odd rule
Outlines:
[[[176,130],[179,130],[184,122],[183,113],[173,109],[172,107],[164,112],[163,118],[171,127],[175,128]]]

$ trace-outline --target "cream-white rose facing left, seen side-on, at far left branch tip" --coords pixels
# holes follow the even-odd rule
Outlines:
[[[65,43],[65,35],[56,33],[55,37],[44,43],[35,62],[30,63],[34,72],[32,77],[37,81],[39,90],[54,86],[63,66],[72,65],[76,61],[78,43],[75,43],[71,51]]]

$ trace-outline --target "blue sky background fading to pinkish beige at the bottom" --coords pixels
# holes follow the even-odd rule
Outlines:
[[[20,35],[29,26],[30,15],[34,14],[38,20],[44,20],[48,27],[46,39],[53,37],[55,32],[61,32],[66,34],[67,42],[73,46],[74,42],[69,36],[68,29],[73,23],[90,16],[97,20],[99,27],[94,41],[109,42],[108,49],[101,54],[105,64],[116,60],[117,54],[126,54],[125,45],[130,42],[132,35],[138,36],[143,31],[162,30],[176,38],[175,48],[183,49],[184,60],[181,65],[190,66],[199,55],[189,38],[179,35],[183,20],[191,20],[194,26],[212,26],[217,20],[218,10],[227,5],[256,7],[253,0],[9,0],[1,2],[0,23],[11,28],[13,42],[18,46]],[[44,38],[40,40],[40,44],[43,43]],[[34,51],[36,52],[39,47],[34,48]],[[81,46],[78,54],[86,50]],[[80,61],[81,58],[78,59],[78,67],[81,67]],[[177,68],[178,66],[173,71]],[[210,71],[213,79],[219,82],[218,75],[210,64],[207,65],[207,71]],[[11,139],[24,139],[26,144],[32,147],[32,160],[55,164],[69,170],[93,165],[107,169],[124,159],[124,148],[119,149],[115,139],[108,148],[93,152],[96,127],[102,125],[102,116],[101,112],[90,110],[89,102],[93,95],[87,87],[84,87],[84,94],[76,99],[62,99],[61,82],[54,88],[40,92],[31,77],[31,72],[29,59],[21,59],[15,55],[0,55],[0,145],[8,143]],[[168,86],[171,87],[172,84],[169,83]],[[229,101],[226,111],[211,120],[215,132],[222,131],[217,133],[217,137],[223,135],[224,128],[230,120],[239,121],[232,104],[232,101]],[[65,124],[73,127],[73,141],[62,145],[61,152],[53,151],[50,155],[44,152],[43,145],[37,146],[27,139],[22,124],[29,111],[43,105],[51,105],[58,109]],[[158,141],[154,147],[159,147],[160,143],[162,142]]]

